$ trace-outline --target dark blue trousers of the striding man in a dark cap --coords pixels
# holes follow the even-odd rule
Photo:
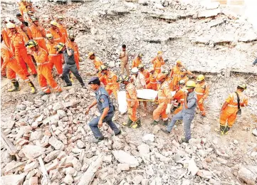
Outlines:
[[[106,122],[110,128],[115,132],[115,134],[120,132],[120,129],[117,128],[114,122],[112,122],[112,117],[114,115],[114,112],[107,115],[105,119],[103,119],[103,122]],[[103,138],[103,134],[100,132],[100,129],[98,128],[98,122],[100,120],[100,117],[96,117],[89,123],[89,127],[92,130],[95,138]]]

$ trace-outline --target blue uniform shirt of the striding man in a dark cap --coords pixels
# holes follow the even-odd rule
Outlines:
[[[110,97],[105,90],[105,88],[100,87],[96,92],[95,92],[95,97],[98,102],[98,110],[102,114],[103,110],[106,107],[109,107],[108,115],[114,111],[114,106],[112,105],[112,102],[110,101]]]

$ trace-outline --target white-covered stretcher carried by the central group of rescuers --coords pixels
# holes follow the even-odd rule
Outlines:
[[[175,95],[176,91],[172,91],[172,97]],[[157,90],[152,89],[142,89],[137,90],[137,98],[139,101],[147,101],[147,102],[154,102],[155,98],[158,95]],[[119,104],[119,111],[124,114],[127,112],[127,100],[126,100],[126,92],[119,91],[117,93],[117,102]]]

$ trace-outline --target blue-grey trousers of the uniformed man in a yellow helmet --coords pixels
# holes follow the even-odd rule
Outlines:
[[[191,139],[191,122],[194,119],[194,115],[189,115],[187,113],[184,113],[183,111],[180,111],[177,113],[177,115],[174,115],[172,117],[172,122],[169,123],[167,126],[167,131],[171,132],[172,128],[174,127],[177,120],[183,120],[184,122],[184,136],[187,140]]]

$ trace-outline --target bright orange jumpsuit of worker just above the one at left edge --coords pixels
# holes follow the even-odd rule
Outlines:
[[[31,69],[32,74],[36,74],[36,67],[33,64],[32,58],[27,54],[27,49],[25,47],[25,43],[28,41],[28,36],[26,36],[23,32],[16,32],[11,34],[11,48],[15,52],[16,60],[18,60],[21,68],[23,69],[26,75],[29,75],[28,68]]]

